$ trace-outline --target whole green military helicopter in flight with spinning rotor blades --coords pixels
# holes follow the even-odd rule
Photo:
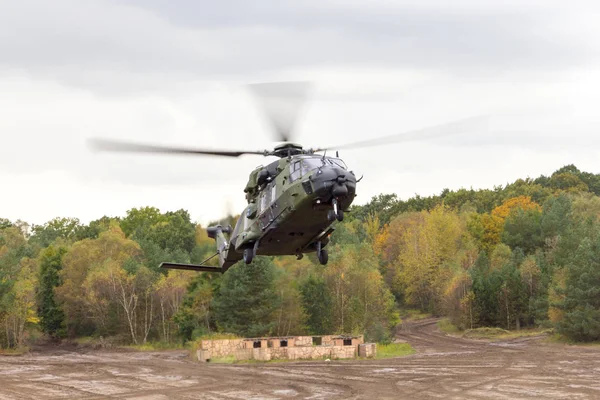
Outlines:
[[[161,268],[224,273],[241,260],[251,264],[257,255],[295,255],[301,259],[305,253],[312,252],[316,252],[320,264],[326,265],[329,237],[336,221],[342,221],[344,213],[348,212],[356,196],[357,183],[362,179],[348,169],[337,150],[462,133],[483,122],[481,117],[474,117],[375,140],[304,149],[290,141],[290,133],[301,103],[298,100],[305,96],[306,86],[303,82],[251,85],[255,94],[264,101],[267,115],[282,142],[273,150],[208,150],[104,139],[90,141],[97,151],[277,158],[250,173],[244,188],[248,204],[235,227],[216,225],[207,228],[208,236],[216,241],[214,255],[200,265],[163,262]],[[334,149],[335,157],[327,154]],[[206,265],[216,256],[218,267]]]

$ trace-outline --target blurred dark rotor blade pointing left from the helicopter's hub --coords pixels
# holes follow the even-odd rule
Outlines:
[[[157,146],[131,142],[121,142],[107,139],[90,139],[89,146],[95,151],[121,152],[121,153],[159,153],[159,154],[185,154],[209,155],[220,157],[239,157],[244,154],[266,155],[266,151],[229,151],[229,150],[202,150],[184,147]]]

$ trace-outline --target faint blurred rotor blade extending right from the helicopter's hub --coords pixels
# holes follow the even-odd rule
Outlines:
[[[325,150],[343,150],[343,149],[355,149],[362,147],[382,146],[385,144],[409,142],[413,140],[422,139],[433,139],[438,137],[458,135],[467,132],[483,132],[488,130],[488,116],[477,116],[466,119],[457,120],[445,124],[430,126],[422,129],[415,129],[411,131],[402,132],[395,135],[383,136],[380,138],[363,140],[360,142],[354,142],[344,144],[341,146],[328,146],[314,150],[325,151]]]

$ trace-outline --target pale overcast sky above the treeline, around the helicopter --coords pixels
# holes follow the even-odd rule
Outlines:
[[[248,83],[312,82],[294,140],[344,144],[474,115],[487,131],[345,150],[356,203],[599,173],[596,1],[0,0],[0,217],[238,213],[257,156],[93,154],[90,137],[260,150]]]

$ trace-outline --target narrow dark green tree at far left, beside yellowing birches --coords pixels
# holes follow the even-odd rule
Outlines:
[[[59,272],[64,247],[49,246],[40,253],[39,288],[37,291],[38,317],[42,332],[52,338],[65,335],[65,314],[56,301],[54,289],[60,285]]]

